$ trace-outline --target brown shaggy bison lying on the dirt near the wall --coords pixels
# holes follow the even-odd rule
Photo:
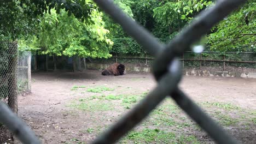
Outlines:
[[[115,63],[110,65],[107,69],[104,69],[102,75],[123,75],[125,71],[125,66],[123,64]]]

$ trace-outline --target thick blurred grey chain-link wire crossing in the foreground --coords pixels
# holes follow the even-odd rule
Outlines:
[[[208,117],[199,106],[185,95],[178,87],[182,77],[182,64],[178,57],[190,48],[195,41],[200,40],[211,27],[224,19],[232,10],[235,10],[243,0],[217,1],[211,9],[199,15],[190,25],[183,29],[171,43],[160,44],[149,32],[139,26],[130,17],[125,15],[111,0],[94,0],[106,13],[112,16],[131,37],[133,37],[150,55],[156,57],[153,63],[153,74],[158,81],[158,86],[150,92],[138,105],[123,118],[110,127],[105,133],[98,136],[92,143],[114,143],[129,130],[141,122],[150,111],[167,96],[176,103],[204,129],[217,143],[237,143],[226,131],[223,130],[212,118]],[[13,58],[11,58],[12,60]],[[15,68],[12,69],[13,71]],[[11,81],[13,79],[9,79]],[[15,81],[15,80],[13,80]],[[14,131],[23,143],[40,143],[33,132],[26,127],[14,113],[0,103],[0,122]]]

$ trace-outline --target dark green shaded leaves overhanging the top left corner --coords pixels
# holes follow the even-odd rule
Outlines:
[[[60,13],[61,9],[65,9],[69,16],[74,15],[79,20],[84,21],[88,19],[91,9],[95,8],[96,5],[90,0],[0,1],[0,34],[8,36],[12,40],[34,35],[36,25],[39,22],[39,15],[51,14],[53,9],[57,11],[57,14]]]

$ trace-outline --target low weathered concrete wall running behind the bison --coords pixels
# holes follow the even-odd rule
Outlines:
[[[98,63],[88,63],[87,68],[92,70],[103,70],[106,69],[109,64],[98,64]],[[126,71],[135,72],[146,72],[150,73],[152,71],[151,67],[136,67],[134,65],[125,65]],[[195,70],[195,69],[184,69],[184,75],[194,75],[194,76],[220,76],[220,77],[242,77],[242,78],[256,78],[255,72],[237,72],[237,71],[210,71],[210,70]]]

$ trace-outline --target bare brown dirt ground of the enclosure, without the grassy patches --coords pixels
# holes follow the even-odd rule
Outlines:
[[[73,86],[86,88],[71,91]],[[150,91],[156,86],[156,82],[151,74],[144,73],[128,73],[123,76],[102,76],[100,71],[95,70],[32,73],[32,93],[19,97],[19,116],[31,126],[42,143],[88,143],[128,111],[114,109],[95,112],[68,106],[74,99],[92,97],[94,93],[85,90],[95,86],[114,88],[114,91],[104,94],[132,95]],[[246,111],[256,110],[256,79],[185,76],[180,87],[196,103],[218,102],[232,104]],[[236,112],[232,115],[236,115]],[[254,116],[252,118],[255,119]],[[256,124],[250,121],[247,127],[249,128],[244,129],[244,125],[238,123],[235,127],[225,129],[242,143],[254,143]],[[98,128],[97,133],[90,131],[90,128]],[[194,131],[186,127],[181,133],[195,135],[200,143],[213,143],[200,130]]]

